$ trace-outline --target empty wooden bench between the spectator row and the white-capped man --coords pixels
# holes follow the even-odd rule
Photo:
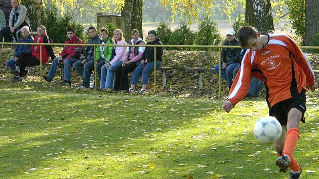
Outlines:
[[[160,67],[158,68],[158,70],[162,71],[162,77],[163,77],[163,86],[166,87],[167,83],[166,83],[166,71],[167,70],[173,70],[173,69],[177,69],[177,67]],[[208,72],[213,72],[212,68],[183,68],[184,70],[188,70],[188,71],[196,71],[198,73],[200,73],[200,76],[198,77],[198,88],[200,90],[203,89],[203,73],[208,71]]]

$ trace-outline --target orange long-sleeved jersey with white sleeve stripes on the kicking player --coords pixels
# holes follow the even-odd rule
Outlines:
[[[300,93],[306,85],[310,86],[315,82],[307,57],[296,42],[285,34],[269,34],[269,41],[262,50],[246,51],[227,101],[233,105],[241,101],[249,91],[253,76],[264,81],[270,107],[290,99],[292,94]]]

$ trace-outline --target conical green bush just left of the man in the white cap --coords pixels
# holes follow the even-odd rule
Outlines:
[[[217,28],[217,23],[206,16],[205,19],[201,21],[195,43],[204,46],[215,46],[218,45],[220,41],[221,36]],[[209,49],[204,48],[203,50]]]

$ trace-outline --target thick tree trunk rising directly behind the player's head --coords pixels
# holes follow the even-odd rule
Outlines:
[[[274,30],[270,0],[246,0],[245,21],[262,34]]]

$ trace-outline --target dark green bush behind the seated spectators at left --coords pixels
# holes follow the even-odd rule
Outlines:
[[[76,36],[82,40],[83,25],[81,23],[71,22],[71,15],[58,16],[58,9],[54,5],[50,5],[44,9],[44,15],[41,19],[41,24],[47,29],[47,34],[52,38],[54,43],[63,43],[66,39],[66,29],[73,27]]]

